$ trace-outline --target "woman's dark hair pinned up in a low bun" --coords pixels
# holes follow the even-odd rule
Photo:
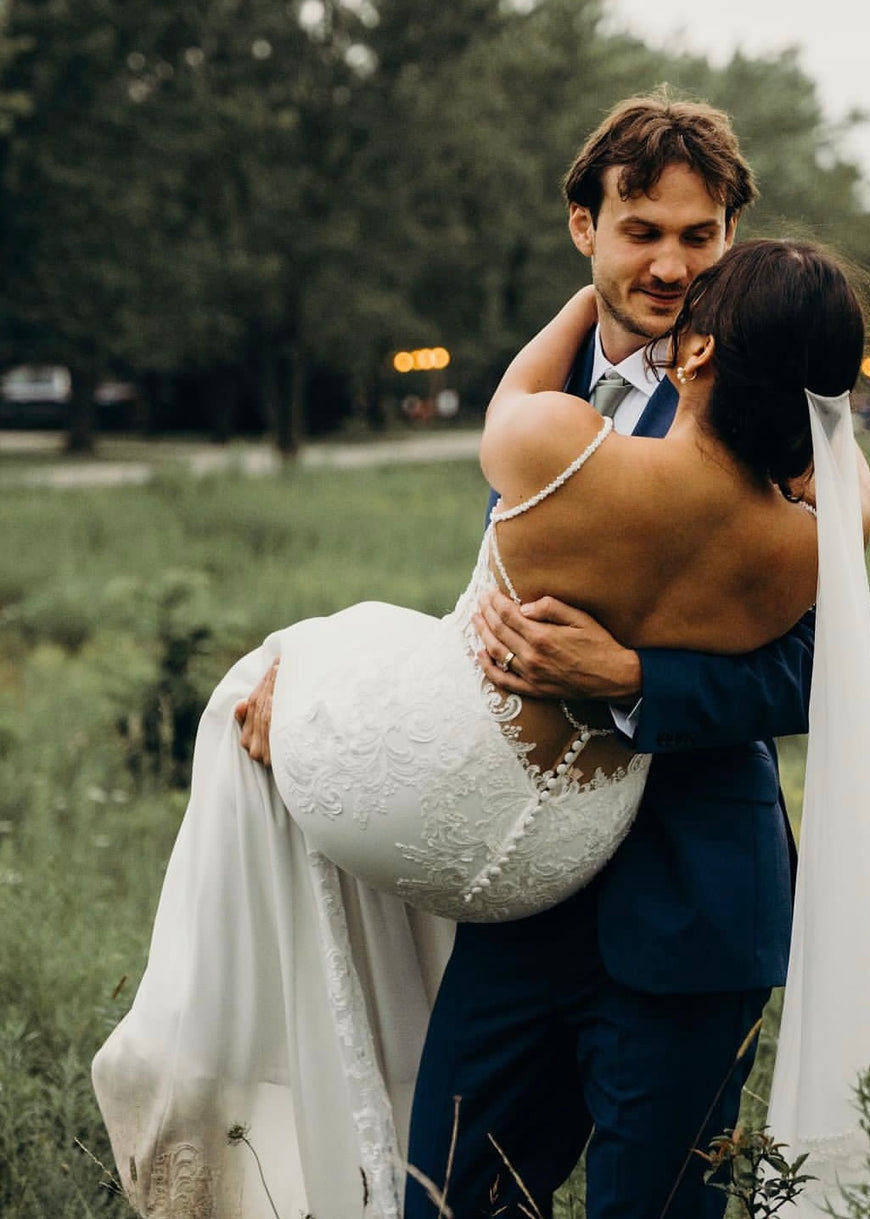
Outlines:
[[[688,286],[670,339],[712,334],[707,425],[759,479],[783,484],[813,453],[804,389],[851,390],[864,318],[841,267],[807,241],[741,241]]]

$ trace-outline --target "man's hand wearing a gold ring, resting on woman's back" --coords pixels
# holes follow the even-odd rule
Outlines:
[[[520,608],[501,592],[480,599],[473,617],[480,667],[500,689],[539,698],[634,703],[641,692],[637,652],[623,647],[582,610],[541,597]],[[511,668],[502,663],[511,652]]]

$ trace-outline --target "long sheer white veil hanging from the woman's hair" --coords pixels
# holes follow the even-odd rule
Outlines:
[[[854,1089],[870,1068],[870,594],[849,396],[807,391],[819,528],[809,744],[788,980],[769,1131],[818,1181],[796,1219],[818,1219],[838,1182],[866,1180],[870,1137]]]

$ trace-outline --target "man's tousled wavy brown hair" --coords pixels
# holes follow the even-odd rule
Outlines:
[[[621,168],[619,195],[634,199],[653,189],[670,165],[686,165],[703,178],[726,222],[758,195],[729,116],[707,102],[676,101],[663,85],[613,107],[565,174],[565,200],[587,207],[597,222],[606,169]]]

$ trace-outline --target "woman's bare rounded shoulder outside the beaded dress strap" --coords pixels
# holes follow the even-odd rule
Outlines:
[[[487,411],[480,466],[490,486],[532,495],[570,464],[602,427],[595,407],[571,394],[518,394]]]

